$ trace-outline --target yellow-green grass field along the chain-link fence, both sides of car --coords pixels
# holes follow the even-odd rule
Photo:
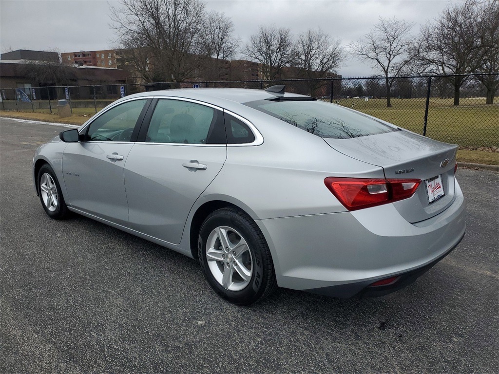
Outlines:
[[[454,107],[452,99],[430,100],[426,135],[447,143],[471,148],[499,148],[499,98],[496,104],[485,105],[485,99],[462,99],[461,106]],[[392,99],[392,108],[386,107],[385,99],[342,99],[337,104],[381,118],[402,128],[422,134],[425,115],[425,99]],[[93,102],[92,102],[93,104]],[[99,111],[102,108],[97,108]],[[36,113],[0,111],[0,115],[46,122],[82,124],[95,114],[94,107],[74,108],[73,116],[59,119],[56,109],[38,109]],[[460,150],[458,161],[499,165],[499,153]]]

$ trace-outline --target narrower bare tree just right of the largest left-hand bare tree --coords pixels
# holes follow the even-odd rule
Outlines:
[[[227,65],[227,60],[234,57],[240,43],[240,39],[234,36],[234,24],[231,18],[224,13],[210,12],[202,38],[206,53],[211,57],[205,62],[204,78],[222,79],[228,74],[228,69],[224,69],[224,66]]]

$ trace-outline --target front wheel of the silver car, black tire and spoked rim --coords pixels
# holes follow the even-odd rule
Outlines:
[[[53,219],[66,218],[68,215],[67,205],[55,173],[49,165],[45,164],[40,168],[37,181],[38,193],[45,213]]]

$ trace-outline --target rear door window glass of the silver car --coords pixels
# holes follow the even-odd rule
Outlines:
[[[189,101],[159,99],[146,142],[207,144],[215,109]]]

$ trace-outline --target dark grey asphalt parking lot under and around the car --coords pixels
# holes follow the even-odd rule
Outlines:
[[[499,372],[497,173],[458,171],[467,234],[404,290],[237,307],[190,258],[48,218],[31,162],[62,128],[0,121],[1,373]]]

